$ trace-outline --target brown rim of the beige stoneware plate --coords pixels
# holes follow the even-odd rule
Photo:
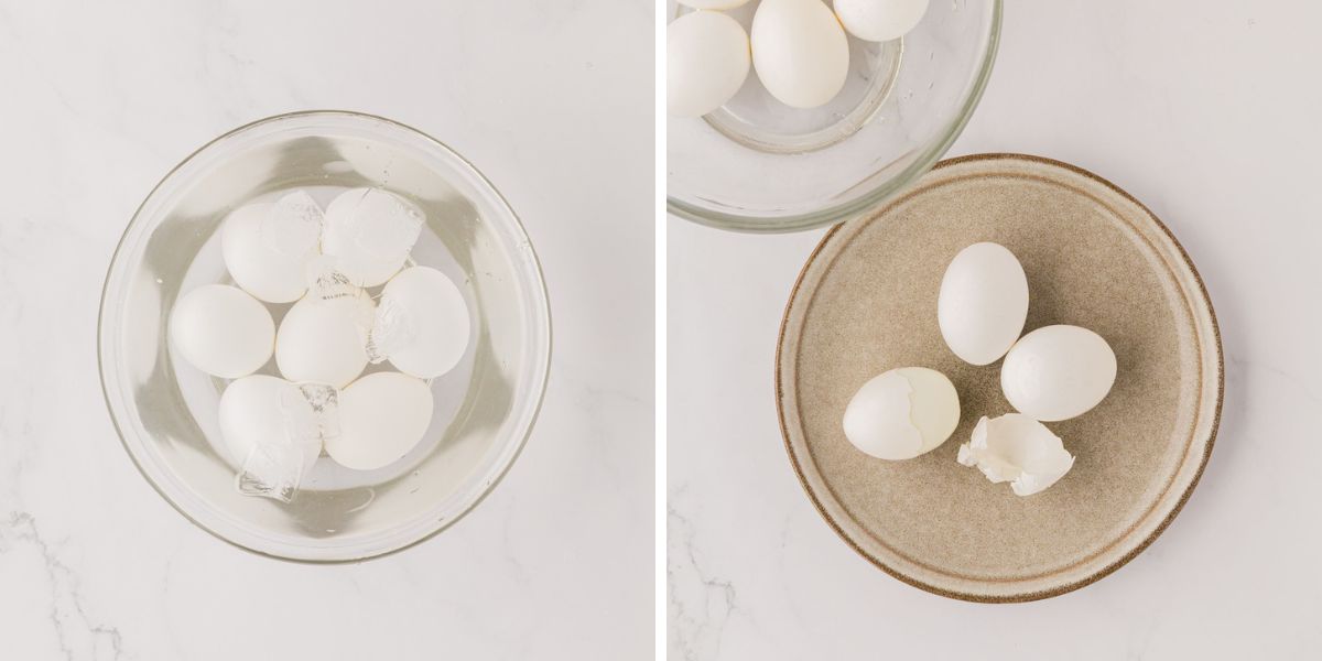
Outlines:
[[[1161,221],[1161,218],[1158,218],[1157,214],[1154,214],[1151,212],[1151,209],[1149,209],[1146,205],[1144,205],[1137,198],[1134,198],[1134,196],[1129,194],[1122,188],[1117,186],[1116,184],[1112,184],[1109,180],[1107,180],[1104,177],[1093,175],[1092,172],[1088,172],[1088,171],[1085,171],[1083,168],[1079,168],[1076,165],[1071,165],[1068,163],[1058,161],[1055,159],[1047,159],[1044,156],[1032,156],[1032,155],[1027,155],[1027,153],[1013,153],[1013,152],[974,153],[974,155],[968,155],[968,156],[956,156],[953,159],[945,159],[945,160],[937,163],[936,165],[933,165],[932,171],[935,172],[935,171],[944,169],[944,168],[948,168],[948,167],[952,167],[952,165],[958,165],[958,164],[962,164],[962,163],[990,161],[990,160],[1018,160],[1018,161],[1030,161],[1030,163],[1039,163],[1039,164],[1052,165],[1052,167],[1068,171],[1071,173],[1080,175],[1080,176],[1083,176],[1085,178],[1089,178],[1092,181],[1096,181],[1096,182],[1101,184],[1103,186],[1110,189],[1112,192],[1120,194],[1125,200],[1133,202],[1136,206],[1138,206],[1140,209],[1142,209],[1142,212],[1153,221],[1153,223],[1158,229],[1161,229],[1162,233],[1166,234],[1166,238],[1169,238],[1170,242],[1179,251],[1179,255],[1185,259],[1185,264],[1188,267],[1188,271],[1194,275],[1194,280],[1198,283],[1198,291],[1202,295],[1203,301],[1207,304],[1207,315],[1208,315],[1208,319],[1211,320],[1211,324],[1212,324],[1212,338],[1215,340],[1215,348],[1216,348],[1216,408],[1215,408],[1215,411],[1212,414],[1212,427],[1211,427],[1211,434],[1207,438],[1207,447],[1203,451],[1202,460],[1199,460],[1199,463],[1198,463],[1198,469],[1194,472],[1194,479],[1192,479],[1192,481],[1190,481],[1188,488],[1185,489],[1185,493],[1182,493],[1179,496],[1179,500],[1175,502],[1175,506],[1170,510],[1170,513],[1166,516],[1166,518],[1161,524],[1157,525],[1157,529],[1153,530],[1153,533],[1150,535],[1147,535],[1142,542],[1140,542],[1137,546],[1134,546],[1128,553],[1125,553],[1122,557],[1120,557],[1120,559],[1117,559],[1116,562],[1112,562],[1110,564],[1108,564],[1108,566],[1097,570],[1096,572],[1093,572],[1092,575],[1089,575],[1089,576],[1087,576],[1087,578],[1084,578],[1081,580],[1067,583],[1064,586],[1059,586],[1059,587],[1055,587],[1055,588],[1051,588],[1051,590],[1040,590],[1040,591],[1023,592],[1023,594],[1018,594],[1018,595],[1005,595],[1005,596],[989,596],[989,595],[976,595],[976,594],[969,594],[969,592],[957,592],[957,591],[945,590],[945,588],[941,588],[941,587],[937,587],[937,586],[932,586],[932,584],[924,583],[921,580],[917,580],[917,579],[915,579],[912,576],[908,576],[908,575],[906,575],[906,574],[895,570],[894,567],[887,566],[880,559],[874,558],[867,551],[865,551],[859,545],[857,545],[849,535],[846,535],[845,531],[843,531],[843,529],[841,529],[839,524],[837,524],[836,520],[832,518],[832,516],[822,506],[822,502],[821,502],[820,497],[817,496],[817,493],[808,484],[808,480],[804,476],[802,464],[800,463],[798,456],[795,455],[795,449],[793,449],[793,447],[789,443],[789,430],[785,426],[784,383],[781,382],[781,371],[780,371],[781,353],[783,353],[784,345],[785,345],[785,328],[789,325],[789,311],[795,305],[795,301],[798,297],[800,287],[804,283],[804,276],[808,274],[808,270],[813,266],[813,263],[820,256],[821,251],[830,242],[832,237],[834,237],[836,233],[839,231],[839,229],[841,229],[841,226],[843,223],[833,226],[832,229],[829,229],[826,231],[825,235],[822,235],[822,239],[817,243],[817,246],[813,249],[813,251],[808,255],[808,259],[804,262],[804,267],[798,271],[798,278],[795,279],[795,286],[789,291],[789,300],[785,303],[785,312],[784,312],[784,315],[780,319],[780,332],[779,332],[779,334],[776,337],[776,416],[780,420],[780,435],[781,435],[781,442],[785,444],[785,453],[789,455],[789,463],[795,468],[795,476],[798,477],[800,486],[802,486],[804,492],[808,494],[808,498],[812,501],[813,508],[817,509],[817,513],[822,517],[824,521],[826,521],[826,525],[829,525],[830,529],[834,530],[836,534],[841,539],[843,539],[845,543],[849,545],[850,549],[854,550],[854,553],[859,554],[867,562],[873,563],[874,566],[876,566],[878,568],[880,568],[886,574],[890,574],[891,576],[899,579],[900,582],[907,583],[910,586],[914,586],[914,587],[916,587],[919,590],[923,590],[923,591],[927,591],[927,592],[931,592],[931,594],[935,594],[935,595],[951,598],[951,599],[958,599],[958,600],[962,600],[962,602],[976,602],[976,603],[985,603],[985,604],[1005,604],[1005,603],[1022,603],[1022,602],[1036,602],[1039,599],[1048,599],[1048,598],[1059,596],[1059,595],[1063,595],[1066,592],[1072,592],[1072,591],[1079,590],[1079,588],[1081,588],[1084,586],[1089,586],[1092,583],[1096,583],[1097,580],[1108,576],[1109,574],[1114,572],[1120,567],[1125,566],[1129,561],[1134,559],[1138,554],[1144,553],[1144,550],[1146,550],[1147,546],[1150,546],[1153,543],[1153,541],[1157,539],[1157,537],[1159,537],[1163,531],[1166,531],[1166,527],[1170,526],[1170,522],[1175,520],[1175,516],[1179,514],[1179,512],[1185,508],[1185,504],[1188,502],[1188,497],[1192,496],[1194,489],[1198,486],[1199,480],[1202,480],[1202,477],[1203,477],[1203,469],[1207,468],[1207,461],[1212,456],[1212,448],[1216,444],[1216,434],[1220,430],[1220,423],[1222,423],[1222,406],[1225,402],[1225,356],[1224,356],[1224,352],[1222,349],[1222,330],[1220,330],[1220,325],[1218,325],[1218,323],[1216,323],[1216,311],[1212,307],[1212,299],[1211,299],[1211,296],[1208,296],[1208,293],[1207,293],[1207,284],[1203,282],[1203,276],[1198,272],[1198,268],[1194,266],[1192,259],[1188,258],[1188,251],[1185,250],[1185,246],[1179,243],[1179,239],[1177,239],[1175,235],[1171,234],[1170,227],[1167,227],[1166,223],[1163,223]],[[921,185],[921,184],[919,184],[919,185]],[[914,190],[914,189],[910,189],[910,190]],[[904,197],[907,197],[907,196],[904,196]],[[896,197],[896,198],[892,198],[892,200],[887,201],[887,204],[884,206],[882,206],[882,208],[876,209],[875,212],[870,213],[869,217],[875,218],[876,215],[884,213],[898,200],[900,200],[900,197]]]

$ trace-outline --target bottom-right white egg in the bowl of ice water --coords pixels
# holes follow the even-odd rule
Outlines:
[[[346,468],[371,471],[397,461],[431,424],[431,389],[397,371],[368,374],[340,393],[340,434],[327,453]]]

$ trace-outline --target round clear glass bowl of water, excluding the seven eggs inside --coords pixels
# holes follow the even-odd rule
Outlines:
[[[379,186],[416,204],[427,222],[411,259],[460,286],[473,328],[460,366],[432,382],[435,415],[414,451],[374,472],[323,456],[286,504],[235,488],[217,422],[227,381],[177,358],[167,324],[180,293],[231,282],[218,247],[226,213],[295,186],[313,197],[336,186]],[[288,308],[270,307],[276,320]],[[395,551],[473,508],[522,448],[550,365],[541,268],[500,193],[435,139],[338,111],[254,122],[171,171],[115,250],[98,336],[106,405],[152,486],[221,539],[309,562]],[[274,369],[272,360],[259,373]]]

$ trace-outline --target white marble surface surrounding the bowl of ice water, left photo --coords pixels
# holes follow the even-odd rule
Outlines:
[[[0,657],[650,654],[652,7],[383,4],[0,0]],[[541,419],[492,496],[330,567],[241,551],[157,497],[95,346],[148,189],[223,131],[324,107],[476,163],[527,226],[555,323]]]

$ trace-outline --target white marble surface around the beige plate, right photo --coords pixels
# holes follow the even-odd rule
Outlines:
[[[1183,513],[1112,576],[980,605],[873,568],[780,442],[780,315],[821,233],[669,223],[669,649],[687,660],[1317,658],[1322,652],[1322,8],[1007,3],[952,155],[1040,153],[1110,178],[1179,237],[1227,358],[1216,451]]]

